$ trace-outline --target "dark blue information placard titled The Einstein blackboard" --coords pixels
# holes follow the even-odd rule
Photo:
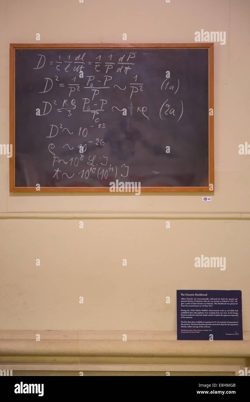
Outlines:
[[[177,290],[178,340],[242,340],[240,290]]]

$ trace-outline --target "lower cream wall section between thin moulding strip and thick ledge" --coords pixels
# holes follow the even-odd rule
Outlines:
[[[249,221],[171,220],[170,229],[163,219],[86,219],[84,229],[69,219],[1,223],[1,329],[173,331],[176,289],[240,289],[250,330]],[[195,268],[201,254],[226,256],[225,271]]]

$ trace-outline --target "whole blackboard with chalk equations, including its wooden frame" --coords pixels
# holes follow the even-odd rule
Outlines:
[[[10,45],[10,144],[10,191],[213,191],[213,44]]]

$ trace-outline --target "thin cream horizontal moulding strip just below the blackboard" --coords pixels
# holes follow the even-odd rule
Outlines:
[[[1,212],[0,219],[227,219],[250,220],[250,213],[152,213],[152,212]]]

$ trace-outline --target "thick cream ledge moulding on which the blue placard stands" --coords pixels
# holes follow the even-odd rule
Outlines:
[[[176,331],[1,330],[0,355],[248,357],[249,331],[243,339],[177,340]]]

